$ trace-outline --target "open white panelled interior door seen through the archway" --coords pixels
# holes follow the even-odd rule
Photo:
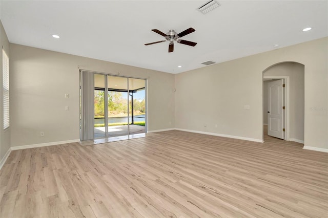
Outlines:
[[[283,79],[268,83],[268,135],[284,139]]]

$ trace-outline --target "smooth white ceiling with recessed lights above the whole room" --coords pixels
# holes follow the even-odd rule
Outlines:
[[[219,0],[204,15],[196,8],[206,2],[1,0],[0,17],[12,43],[174,74],[328,36],[328,1]],[[151,29],[190,27],[183,39],[195,47],[144,46],[164,39]]]

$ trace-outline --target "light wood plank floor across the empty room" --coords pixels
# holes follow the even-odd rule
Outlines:
[[[11,152],[0,217],[327,217],[328,154],[177,130]]]

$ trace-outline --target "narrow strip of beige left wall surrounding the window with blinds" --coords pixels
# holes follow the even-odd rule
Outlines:
[[[5,29],[2,26],[1,20],[0,20],[0,43],[1,43],[1,48],[3,48],[6,52],[6,54],[9,56],[10,58],[10,54],[9,54],[9,41],[8,41],[8,37],[6,35]],[[9,59],[9,61],[11,61],[11,59]],[[3,160],[3,157],[5,156],[6,152],[9,150],[10,148],[10,129],[11,126],[9,128],[7,128],[4,131],[4,112],[3,112],[3,68],[2,68],[2,50],[0,51],[0,90],[1,90],[1,95],[0,95],[0,160]],[[11,69],[9,69],[10,71]],[[11,73],[11,72],[10,72]],[[9,78],[10,79],[10,78]],[[9,86],[9,89],[11,89],[11,87]]]

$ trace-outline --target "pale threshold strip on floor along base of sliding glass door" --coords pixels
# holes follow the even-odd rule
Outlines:
[[[133,135],[85,140],[85,141],[80,141],[78,143],[81,146],[87,146],[87,145],[104,144],[104,143],[110,143],[110,142],[118,142],[118,141],[129,140],[129,139],[145,138],[145,137],[156,136],[156,135],[157,135],[156,133],[139,133],[139,134],[133,134]]]

